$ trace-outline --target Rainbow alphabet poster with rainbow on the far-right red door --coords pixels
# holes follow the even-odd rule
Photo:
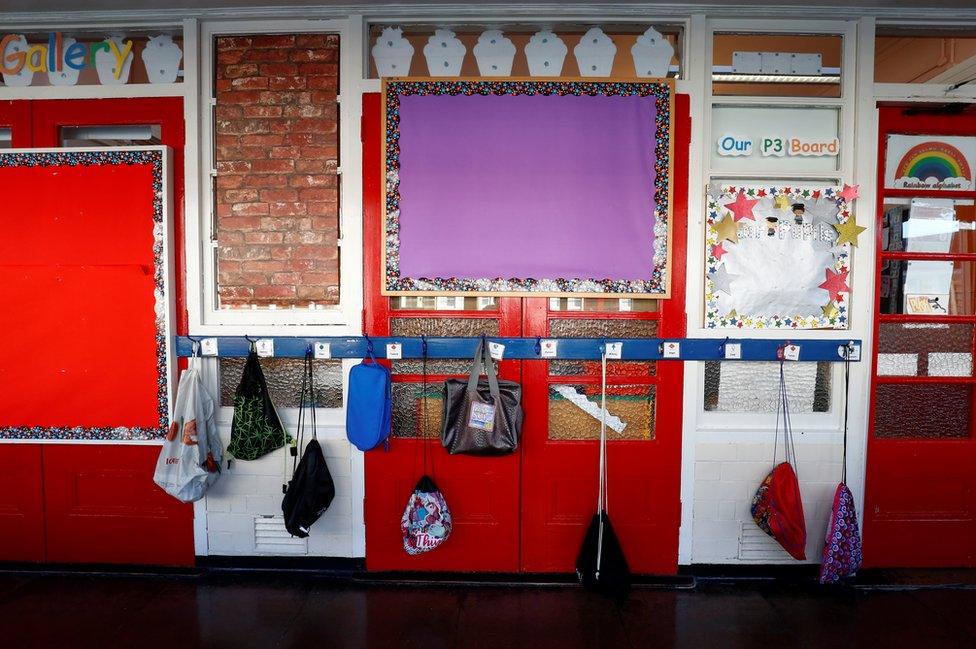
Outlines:
[[[885,187],[972,191],[976,137],[889,135]]]

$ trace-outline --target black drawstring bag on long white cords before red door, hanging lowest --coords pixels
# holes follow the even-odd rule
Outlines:
[[[600,397],[600,486],[596,513],[583,537],[576,558],[576,576],[584,588],[607,595],[624,596],[630,590],[627,557],[607,515],[607,356],[603,353],[602,394]]]

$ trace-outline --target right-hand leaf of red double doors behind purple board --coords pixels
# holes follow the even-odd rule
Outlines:
[[[685,238],[690,122],[688,97],[675,101],[672,297],[647,311],[552,310],[525,300],[527,336],[684,337]],[[593,302],[587,300],[586,302]],[[609,303],[609,304],[608,304]],[[635,302],[636,304],[636,302]],[[560,304],[562,307],[562,304]],[[619,308],[619,305],[618,305]],[[608,431],[608,509],[631,569],[678,568],[682,363],[610,362],[607,412],[627,423]],[[526,362],[522,452],[522,569],[572,572],[596,508],[599,422],[564,398],[568,390],[599,404],[599,362]],[[677,407],[676,407],[677,404]]]

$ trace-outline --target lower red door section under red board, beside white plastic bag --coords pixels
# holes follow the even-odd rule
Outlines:
[[[47,559],[193,565],[193,506],[152,481],[157,446],[44,447]]]

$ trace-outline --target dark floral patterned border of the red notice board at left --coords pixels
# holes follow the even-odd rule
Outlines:
[[[66,440],[153,440],[166,434],[169,425],[169,388],[167,384],[166,279],[163,263],[163,154],[160,151],[71,151],[0,152],[0,167],[77,167],[101,165],[152,166],[153,175],[153,280],[156,285],[156,411],[159,425],[128,426],[8,426],[0,427],[0,439],[66,439]]]

